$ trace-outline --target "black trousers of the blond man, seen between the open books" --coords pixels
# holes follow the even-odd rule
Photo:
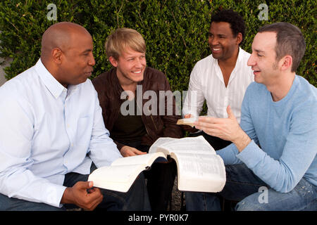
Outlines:
[[[147,153],[150,148],[140,142],[124,144]],[[154,162],[149,170],[143,172],[147,179],[147,192],[152,211],[168,209],[168,200],[172,195],[176,173],[176,162],[173,159],[169,159],[168,162]]]

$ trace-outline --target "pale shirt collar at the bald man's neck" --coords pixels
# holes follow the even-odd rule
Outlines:
[[[37,64],[35,64],[35,70],[37,71],[39,77],[42,79],[42,82],[45,84],[46,88],[49,89],[49,91],[55,98],[58,98],[63,90],[67,91],[67,89],[63,85],[61,85],[53,77],[53,75],[51,75],[49,70],[45,68],[41,59],[39,59],[37,61]]]

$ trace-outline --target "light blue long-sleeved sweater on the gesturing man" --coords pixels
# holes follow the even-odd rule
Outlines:
[[[287,96],[277,102],[266,86],[251,83],[240,126],[252,141],[241,153],[233,143],[218,150],[225,165],[243,162],[282,193],[292,191],[303,176],[317,186],[317,89],[306,79],[295,76]]]

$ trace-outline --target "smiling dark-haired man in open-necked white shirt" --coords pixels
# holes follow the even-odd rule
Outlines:
[[[227,117],[226,108],[240,122],[241,105],[247,86],[254,81],[251,67],[247,66],[250,54],[240,48],[244,39],[243,18],[232,10],[223,10],[213,15],[209,29],[211,55],[199,60],[189,80],[187,96],[182,108],[185,118],[199,117],[204,101],[210,117]],[[197,129],[185,130],[194,133]],[[209,136],[203,131],[190,136],[203,135],[216,150],[224,148],[230,141]]]

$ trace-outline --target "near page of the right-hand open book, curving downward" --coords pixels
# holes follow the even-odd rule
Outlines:
[[[225,166],[214,154],[172,153],[178,165],[180,191],[218,192],[225,185]]]

